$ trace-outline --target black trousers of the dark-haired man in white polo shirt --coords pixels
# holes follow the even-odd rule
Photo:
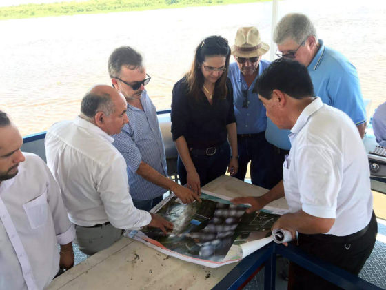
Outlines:
[[[336,236],[334,235],[304,235],[299,233],[298,247],[309,255],[358,275],[372,253],[377,232],[378,224],[373,212],[367,232],[356,240],[342,242],[335,241]],[[341,289],[293,262],[290,264],[289,276],[288,289]]]

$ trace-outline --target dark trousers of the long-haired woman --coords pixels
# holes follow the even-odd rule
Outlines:
[[[204,186],[227,171],[227,166],[230,162],[230,146],[228,142],[224,142],[219,146],[214,155],[208,156],[191,153],[190,157],[199,174],[200,184]],[[180,155],[177,160],[177,173],[179,173],[181,184],[186,184],[187,173]]]

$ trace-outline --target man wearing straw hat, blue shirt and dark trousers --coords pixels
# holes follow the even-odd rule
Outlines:
[[[247,164],[250,164],[252,184],[271,188],[267,179],[267,148],[264,133],[267,126],[265,108],[258,95],[252,92],[256,79],[270,61],[261,56],[270,49],[261,41],[256,27],[241,27],[236,32],[232,55],[236,62],[230,64],[228,77],[232,81],[234,115],[237,124],[238,173],[234,177],[244,180]]]

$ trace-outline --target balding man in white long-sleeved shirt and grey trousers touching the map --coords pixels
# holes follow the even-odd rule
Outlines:
[[[45,137],[47,164],[75,224],[76,242],[88,255],[121,238],[122,229],[173,224],[136,209],[129,193],[126,162],[110,136],[128,123],[125,98],[110,86],[94,86],[73,121],[54,124]]]

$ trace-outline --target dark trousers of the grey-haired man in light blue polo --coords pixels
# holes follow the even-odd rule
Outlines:
[[[267,158],[270,161],[267,162],[266,189],[272,189],[283,180],[283,162],[288,153],[290,153],[289,150],[278,148],[272,144],[268,145]]]

